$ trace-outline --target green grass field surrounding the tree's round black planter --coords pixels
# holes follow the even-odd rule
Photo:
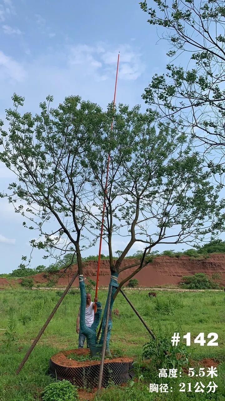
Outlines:
[[[141,369],[143,344],[149,334],[134,314],[121,294],[115,301],[120,316],[113,316],[111,350],[123,352],[135,358],[136,380],[123,388],[110,387],[101,392],[95,400],[225,400],[225,296],[223,292],[174,293],[160,291],[157,299],[148,298],[146,291],[127,291],[141,316],[156,335],[171,338],[173,332],[191,332],[195,338],[205,332],[219,336],[219,346],[200,346],[192,344],[191,358],[201,360],[214,358],[219,361],[218,377],[188,377],[183,373],[179,378],[159,379],[155,367],[149,363],[147,371]],[[104,304],[106,291],[100,291],[99,300]],[[79,306],[79,293],[68,294],[56,312],[36,348],[26,362],[22,372],[15,371],[26,350],[56,304],[59,296],[48,290],[5,290],[0,292],[0,401],[41,400],[40,393],[52,382],[48,376],[50,356],[62,349],[76,348],[76,316]],[[173,309],[170,305],[173,305]],[[173,314],[169,314],[169,313]],[[11,338],[10,338],[11,333]],[[207,339],[207,338],[206,338]],[[192,341],[193,342],[193,341]],[[191,367],[191,365],[190,365]],[[207,385],[214,381],[218,389],[213,393],[195,393],[197,381]],[[191,392],[180,392],[179,383],[190,383]],[[149,393],[149,383],[168,383],[173,392]],[[207,389],[208,391],[208,389]],[[55,400],[57,401],[57,400]]]

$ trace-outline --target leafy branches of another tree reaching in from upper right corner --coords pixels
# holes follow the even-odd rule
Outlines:
[[[171,46],[166,73],[153,77],[143,98],[181,132],[221,148],[225,144],[225,7],[221,0],[140,2],[151,25]],[[174,61],[178,63],[176,66]],[[215,167],[217,171],[220,168]],[[223,170],[222,170],[223,171]]]

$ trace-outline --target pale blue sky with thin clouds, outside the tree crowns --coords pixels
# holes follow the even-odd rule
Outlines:
[[[167,43],[146,20],[138,0],[0,0],[0,118],[12,106],[14,92],[25,97],[32,112],[48,94],[55,104],[78,94],[106,107],[113,98],[118,51],[117,101],[143,104],[144,88],[168,62]],[[12,179],[2,164],[0,179],[1,190]],[[12,271],[30,252],[32,233],[22,221],[1,199],[0,273]],[[42,263],[42,253],[35,250],[32,267]]]

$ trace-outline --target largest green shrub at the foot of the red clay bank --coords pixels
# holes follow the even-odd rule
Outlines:
[[[181,286],[190,290],[219,289],[218,284],[209,279],[205,273],[195,273],[192,276],[183,276]]]

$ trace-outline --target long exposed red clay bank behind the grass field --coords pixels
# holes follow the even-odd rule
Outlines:
[[[135,263],[137,259],[125,259],[122,267],[129,266]],[[84,276],[96,280],[97,261],[88,261],[84,263]],[[137,268],[137,267],[136,267]],[[73,265],[66,272],[59,270],[55,273],[50,273],[46,277],[46,273],[38,273],[34,275],[34,283],[48,282],[49,279],[56,279],[58,277],[57,286],[64,287],[70,281],[70,278],[77,270],[77,265]],[[127,277],[135,267],[127,269],[120,273],[119,281]],[[225,286],[225,254],[212,254],[206,259],[190,259],[188,256],[169,257],[158,256],[154,259],[153,263],[145,266],[135,278],[138,279],[139,285],[143,287],[153,287],[155,285],[163,284],[178,284],[183,275],[192,275],[194,273],[206,273],[212,275],[213,273],[221,274],[221,285]],[[100,263],[100,276],[99,286],[107,286],[109,283],[109,262],[108,260],[101,260]],[[74,286],[78,286],[78,279],[76,278]]]

